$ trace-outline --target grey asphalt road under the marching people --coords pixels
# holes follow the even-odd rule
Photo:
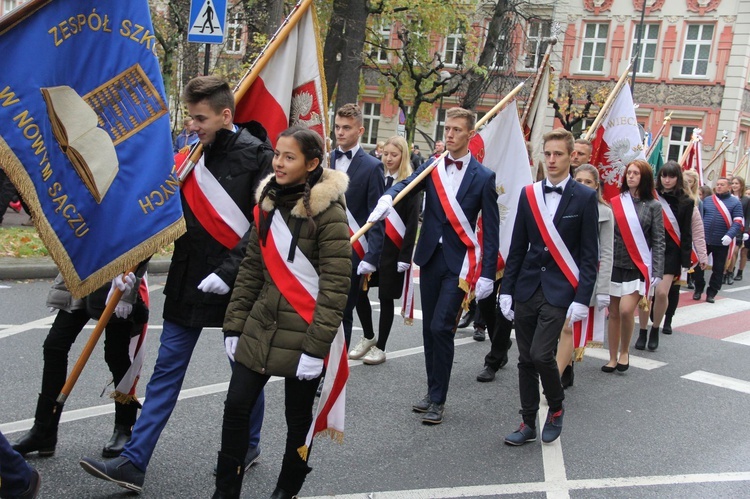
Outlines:
[[[151,279],[157,289],[141,396],[156,358],[163,282],[164,276]],[[489,343],[459,330],[445,422],[423,426],[411,412],[425,392],[421,321],[406,327],[396,318],[388,360],[351,363],[345,442],[316,440],[303,496],[750,497],[750,333],[743,334],[750,331],[750,286],[743,282],[714,305],[683,296],[675,334],[662,337],[657,352],[634,351],[624,374],[602,373],[605,352],[589,350],[566,391],[561,439],[519,448],[503,444],[520,422],[515,362],[494,382],[478,383]],[[52,320],[44,307],[49,285],[0,281],[0,430],[10,439],[32,424],[41,345]],[[515,345],[511,354],[517,355]],[[228,379],[221,334],[206,330],[148,469],[144,497],[211,496]],[[113,405],[100,396],[108,380],[99,345],[65,405],[55,456],[30,457],[43,477],[40,497],[131,495],[78,465],[82,456],[98,456],[111,434]],[[245,476],[247,498],[268,497],[281,465],[283,383],[272,380],[266,399],[263,453]]]

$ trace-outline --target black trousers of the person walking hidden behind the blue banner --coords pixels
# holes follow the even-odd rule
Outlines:
[[[56,399],[68,376],[68,353],[83,326],[89,321],[89,314],[81,310],[65,312],[60,310],[44,340],[44,367],[42,370],[42,395]],[[131,322],[110,322],[104,330],[104,361],[112,373],[115,386],[130,368]],[[115,424],[133,426],[138,406],[115,402]]]

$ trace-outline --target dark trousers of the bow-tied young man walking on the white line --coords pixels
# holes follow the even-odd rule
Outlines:
[[[536,428],[536,414],[539,411],[539,378],[550,411],[559,410],[565,399],[555,349],[566,313],[567,309],[554,307],[547,302],[541,286],[528,301],[515,303],[521,415],[523,422],[532,428]]]

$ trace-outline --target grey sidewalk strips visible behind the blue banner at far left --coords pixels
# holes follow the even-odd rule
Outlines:
[[[16,213],[10,208],[3,217],[0,230],[4,227],[21,227],[29,221],[29,216],[21,210]],[[149,274],[166,274],[169,270],[169,257],[155,257],[149,262]],[[4,279],[54,279],[57,265],[51,257],[13,258],[0,257],[0,280]]]

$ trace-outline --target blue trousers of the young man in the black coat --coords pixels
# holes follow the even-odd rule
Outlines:
[[[185,327],[164,321],[159,355],[154,365],[154,373],[146,386],[146,400],[141,409],[141,416],[133,427],[130,442],[122,452],[123,457],[128,458],[142,471],[146,471],[156,442],[172,415],[201,331],[202,328],[199,327]],[[251,413],[251,421],[255,424],[251,424],[250,427],[257,429],[257,434],[251,433],[251,445],[253,439],[255,442],[260,440],[260,427],[263,424],[264,404],[260,398],[258,400],[259,403]]]

